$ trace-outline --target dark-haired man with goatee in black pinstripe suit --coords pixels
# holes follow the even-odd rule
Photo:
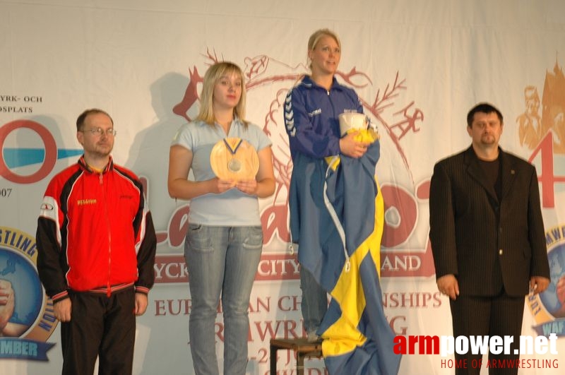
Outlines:
[[[535,167],[499,147],[503,119],[487,103],[467,115],[472,144],[436,163],[430,184],[429,238],[439,291],[450,298],[454,336],[513,336],[508,354],[490,359],[518,359],[528,292],[549,285],[549,263]],[[482,355],[458,355],[467,368],[456,374],[479,374],[472,361]],[[475,362],[477,363],[477,362]],[[517,374],[518,367],[489,369],[489,374]]]

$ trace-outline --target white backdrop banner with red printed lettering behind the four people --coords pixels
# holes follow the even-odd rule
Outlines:
[[[169,143],[196,115],[208,66],[229,60],[245,72],[248,119],[273,141],[277,189],[260,202],[265,243],[248,340],[248,373],[268,374],[270,338],[304,335],[288,249],[292,162],[282,105],[307,73],[309,35],[331,28],[343,44],[338,80],[357,90],[381,133],[381,282],[396,335],[452,334],[428,241],[429,180],[437,160],[468,147],[468,109],[488,101],[504,114],[501,146],[537,167],[552,269],[549,290],[525,301],[523,335],[556,333],[559,355],[525,353],[519,374],[563,374],[564,14],[561,0],[0,0],[0,279],[15,290],[10,324],[18,328],[0,334],[0,372],[61,369],[59,325],[35,268],[35,229],[49,179],[82,153],[75,121],[90,107],[114,118],[114,160],[143,178],[158,236],[134,373],[194,372],[183,258],[189,202],[167,194]],[[218,314],[219,358],[222,332]],[[417,349],[403,357],[400,374],[453,373],[453,355]],[[296,374],[292,353],[279,353],[278,374]],[[323,361],[307,360],[306,374],[324,373]]]

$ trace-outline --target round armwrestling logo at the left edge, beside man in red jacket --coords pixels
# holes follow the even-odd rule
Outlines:
[[[36,265],[35,238],[0,227],[0,358],[46,361],[54,345],[46,341],[57,319]]]

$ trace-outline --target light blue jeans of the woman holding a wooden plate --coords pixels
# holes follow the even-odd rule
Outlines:
[[[218,374],[215,319],[224,312],[224,373],[245,374],[249,297],[263,249],[261,227],[189,225],[184,258],[192,308],[190,350],[196,374]]]

